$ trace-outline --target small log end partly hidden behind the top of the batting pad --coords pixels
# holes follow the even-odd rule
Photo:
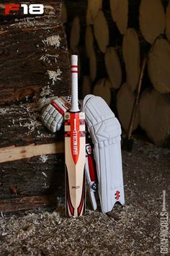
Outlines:
[[[94,85],[93,94],[100,96],[107,102],[108,105],[111,103],[111,83],[107,78],[102,78]]]

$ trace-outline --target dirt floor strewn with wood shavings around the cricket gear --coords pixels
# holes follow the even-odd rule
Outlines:
[[[1,213],[0,255],[161,255],[162,191],[168,208],[170,150],[135,140],[122,152],[125,208],[104,215],[87,203],[86,215],[66,218],[64,198],[55,209]]]

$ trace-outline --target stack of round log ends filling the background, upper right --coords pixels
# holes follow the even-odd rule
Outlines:
[[[81,63],[81,93],[100,95],[115,107],[128,131],[141,63],[147,57],[133,130],[156,145],[170,136],[170,2],[88,0],[63,3],[70,52]]]

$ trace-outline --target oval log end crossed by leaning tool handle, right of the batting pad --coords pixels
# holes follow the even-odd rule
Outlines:
[[[122,124],[122,128],[125,129],[125,132],[128,132],[134,101],[135,93],[131,92],[127,83],[124,83],[121,86],[119,92],[117,93],[117,112],[120,119],[120,123]],[[133,131],[137,129],[138,124],[139,115],[137,109],[133,125]]]

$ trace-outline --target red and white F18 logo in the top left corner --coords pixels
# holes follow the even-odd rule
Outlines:
[[[5,5],[5,14],[9,15],[10,12],[17,12],[19,9],[23,10],[23,14],[43,14],[44,5],[43,4],[6,4]]]

